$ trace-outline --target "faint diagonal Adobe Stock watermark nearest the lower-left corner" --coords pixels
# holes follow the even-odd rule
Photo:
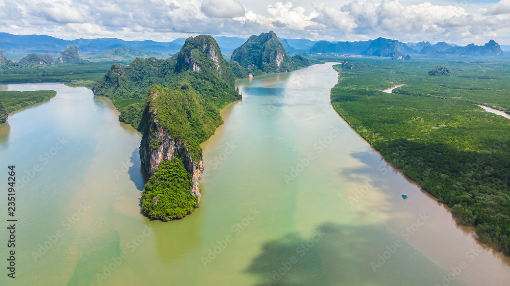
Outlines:
[[[92,209],[92,206],[88,205],[87,202],[80,203],[78,210],[62,221],[62,228],[57,229],[57,231],[54,232],[55,234],[52,233],[51,235],[46,236],[48,240],[44,243],[40,243],[37,251],[32,251],[32,258],[34,258],[34,261],[37,262],[39,258],[42,258],[42,256],[48,252],[48,250],[57,245],[57,243],[64,237],[66,231],[71,229],[73,225],[80,221],[80,219],[90,209]]]

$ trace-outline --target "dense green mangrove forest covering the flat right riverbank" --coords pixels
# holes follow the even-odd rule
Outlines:
[[[373,67],[335,66],[335,110],[388,162],[450,205],[458,223],[510,254],[510,121],[469,103],[510,107],[507,64],[447,62],[453,76],[430,76],[444,59],[362,61]],[[392,94],[380,92],[403,83]]]

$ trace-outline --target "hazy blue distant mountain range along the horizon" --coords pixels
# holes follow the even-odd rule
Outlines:
[[[510,46],[499,46],[490,41],[486,45],[457,46],[446,42],[431,44],[430,42],[403,43],[398,40],[378,38],[368,41],[311,41],[307,39],[278,38],[289,55],[366,55],[377,57],[403,58],[406,55],[421,56],[498,56],[503,51],[510,51]],[[110,58],[117,60],[131,60],[133,57],[153,55],[173,55],[181,49],[186,39],[179,38],[171,42],[125,41],[116,38],[63,40],[45,35],[12,35],[0,33],[0,46],[4,56],[8,59],[20,59],[28,54],[50,54],[54,57],[70,46],[77,46],[86,58]],[[219,47],[228,55],[240,47],[245,41],[241,37],[215,37]],[[118,47],[137,50],[114,50]],[[108,53],[108,54],[104,54]],[[113,54],[112,54],[113,53]],[[95,54],[95,55],[93,55]],[[103,54],[103,55],[101,55]],[[139,55],[139,56],[137,56]],[[99,57],[99,58],[97,58]],[[163,56],[158,56],[163,57]]]

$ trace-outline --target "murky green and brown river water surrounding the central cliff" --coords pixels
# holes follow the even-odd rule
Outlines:
[[[0,181],[7,165],[20,181],[40,165],[17,190],[17,278],[2,259],[0,284],[507,285],[508,259],[334,112],[331,65],[238,81],[243,100],[202,144],[200,207],[166,223],[140,215],[141,135],[108,99],[9,85],[57,96],[0,125]]]

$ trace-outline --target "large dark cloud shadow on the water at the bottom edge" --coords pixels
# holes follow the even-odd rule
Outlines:
[[[259,277],[254,286],[435,285],[449,272],[382,225],[326,222],[313,233],[308,238],[288,233],[264,243],[245,269]],[[394,247],[396,240],[402,242],[400,247]],[[378,254],[387,247],[394,252],[377,264]],[[375,272],[371,262],[380,265]]]

